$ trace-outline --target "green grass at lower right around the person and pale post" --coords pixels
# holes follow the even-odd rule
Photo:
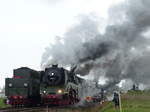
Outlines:
[[[122,112],[150,112],[150,92],[129,91],[121,96]],[[102,108],[100,112],[119,112],[112,102]]]

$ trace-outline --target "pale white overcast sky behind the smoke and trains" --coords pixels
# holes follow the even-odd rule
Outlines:
[[[79,15],[94,13],[107,19],[108,7],[118,1],[0,0],[0,85],[15,68],[40,70],[45,47],[73,26]]]

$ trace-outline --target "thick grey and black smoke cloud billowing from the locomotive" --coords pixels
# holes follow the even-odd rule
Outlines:
[[[106,88],[123,79],[149,85],[150,1],[126,0],[109,9],[109,18],[102,34],[98,18],[83,16],[63,38],[46,48],[41,66],[78,65],[78,74],[91,75],[97,81],[107,78]]]

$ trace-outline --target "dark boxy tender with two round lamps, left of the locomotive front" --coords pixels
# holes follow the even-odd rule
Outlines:
[[[40,103],[40,74],[27,67],[14,70],[12,78],[5,79],[5,95],[8,104],[33,105]]]

